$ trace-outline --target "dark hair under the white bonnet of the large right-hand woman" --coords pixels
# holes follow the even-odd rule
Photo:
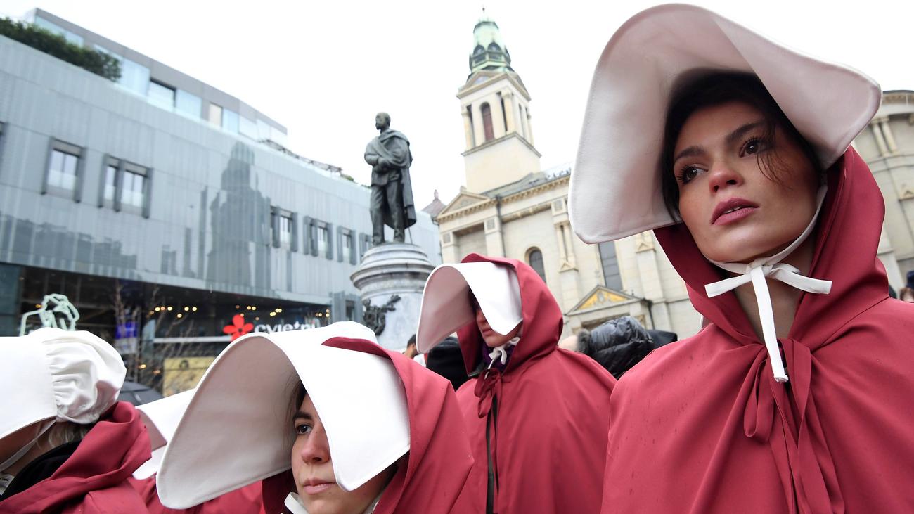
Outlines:
[[[673,153],[683,125],[694,112],[727,102],[744,102],[758,109],[765,117],[765,139],[773,141],[775,129],[784,131],[789,139],[800,146],[803,155],[809,159],[816,172],[820,175],[823,172],[813,146],[781,111],[781,107],[771,98],[771,93],[765,89],[765,85],[758,77],[746,73],[708,75],[680,89],[666,112],[664,146],[660,157],[661,187],[666,210],[674,219],[679,217],[679,186],[673,173]],[[758,156],[762,174],[775,181],[778,180],[779,172],[784,169],[777,150],[774,148],[771,152],[761,152]]]

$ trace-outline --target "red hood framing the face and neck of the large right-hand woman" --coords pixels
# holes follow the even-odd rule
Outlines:
[[[873,174],[860,155],[848,148],[828,171],[828,194],[814,232],[809,275],[832,281],[832,291],[802,294],[789,338],[814,350],[848,319],[887,298],[885,269],[875,258],[884,214]],[[696,310],[740,343],[759,343],[736,294],[707,297],[705,284],[717,282],[721,274],[698,251],[685,225],[657,229],[654,234],[685,280]]]

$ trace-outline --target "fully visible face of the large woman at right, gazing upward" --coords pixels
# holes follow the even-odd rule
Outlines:
[[[679,212],[698,250],[717,262],[751,262],[780,252],[813,219],[813,164],[781,128],[766,139],[762,113],[743,102],[705,107],[685,121],[674,150]],[[760,155],[777,152],[778,181]]]

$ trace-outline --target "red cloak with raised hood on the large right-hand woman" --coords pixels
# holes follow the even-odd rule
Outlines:
[[[698,312],[610,402],[603,512],[914,512],[914,305],[888,297],[882,196],[856,151],[828,171],[809,276],[773,379],[736,295],[685,225],[655,230]]]

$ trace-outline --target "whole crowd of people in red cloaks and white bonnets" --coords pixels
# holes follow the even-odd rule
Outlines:
[[[3,337],[0,513],[914,511],[914,305],[849,146],[880,94],[643,11],[594,73],[570,216],[590,243],[654,230],[695,336],[629,317],[559,348],[537,273],[472,253],[430,274],[409,355],[353,322],[250,334],[139,410],[100,338]]]

